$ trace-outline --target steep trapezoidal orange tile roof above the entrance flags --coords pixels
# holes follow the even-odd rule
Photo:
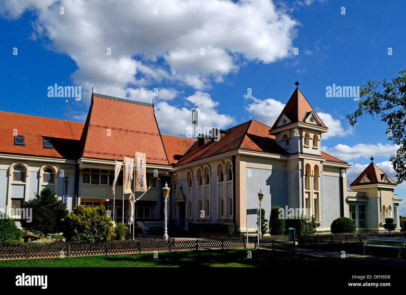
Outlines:
[[[169,165],[151,104],[93,93],[81,143],[83,157],[122,160],[135,150],[147,163]]]

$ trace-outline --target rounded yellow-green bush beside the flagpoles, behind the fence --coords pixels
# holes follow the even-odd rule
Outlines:
[[[73,243],[98,243],[110,239],[111,218],[104,207],[76,205],[64,221],[63,235]]]

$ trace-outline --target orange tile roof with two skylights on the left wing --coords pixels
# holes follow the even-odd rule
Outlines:
[[[0,152],[76,160],[83,123],[0,111]],[[14,144],[14,130],[24,145]],[[45,148],[43,138],[54,148]]]

